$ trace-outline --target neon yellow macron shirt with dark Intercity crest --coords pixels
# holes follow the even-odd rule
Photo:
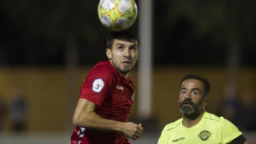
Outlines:
[[[242,133],[230,121],[205,111],[200,122],[190,128],[182,124],[183,118],[166,125],[159,144],[226,144]]]

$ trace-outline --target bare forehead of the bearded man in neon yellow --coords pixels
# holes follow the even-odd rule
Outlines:
[[[203,90],[204,83],[198,79],[186,79],[181,84],[181,89],[200,89]]]

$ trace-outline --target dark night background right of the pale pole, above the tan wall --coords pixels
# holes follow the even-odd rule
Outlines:
[[[243,64],[256,64],[248,57],[255,53],[255,1],[162,0],[155,7],[155,64],[224,65],[234,41],[246,54]]]

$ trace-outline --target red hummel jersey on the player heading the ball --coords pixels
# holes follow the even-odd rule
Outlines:
[[[134,101],[134,86],[131,79],[125,79],[110,63],[97,63],[87,75],[79,98],[96,105],[95,113],[105,119],[128,122]],[[76,127],[71,136],[71,144],[115,144],[130,143],[118,132],[102,132]]]

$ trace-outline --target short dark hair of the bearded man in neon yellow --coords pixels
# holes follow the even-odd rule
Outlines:
[[[206,97],[209,94],[211,84],[208,82],[208,80],[206,78],[200,77],[199,75],[196,75],[196,74],[186,75],[182,78],[179,88],[181,88],[183,81],[185,81],[186,79],[197,79],[197,80],[202,81],[204,83],[204,97]]]

